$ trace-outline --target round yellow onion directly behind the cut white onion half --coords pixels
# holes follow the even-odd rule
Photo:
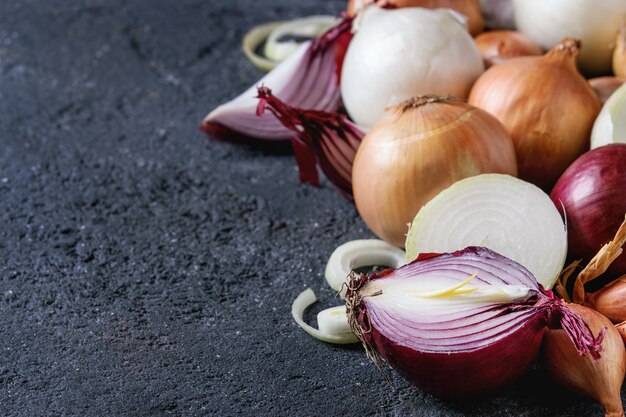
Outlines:
[[[500,122],[458,98],[420,96],[388,109],[363,138],[352,189],[368,227],[402,247],[421,206],[483,173],[517,175],[513,144]]]

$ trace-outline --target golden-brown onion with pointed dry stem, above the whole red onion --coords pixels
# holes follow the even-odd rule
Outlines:
[[[600,101],[576,70],[580,43],[566,39],[541,57],[489,68],[469,103],[496,116],[515,145],[520,178],[549,190],[589,149]]]

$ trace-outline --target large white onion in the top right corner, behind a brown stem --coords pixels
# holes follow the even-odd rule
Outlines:
[[[543,48],[565,37],[579,38],[585,48],[582,70],[603,75],[611,70],[615,36],[626,19],[623,0],[513,0],[517,30]]]

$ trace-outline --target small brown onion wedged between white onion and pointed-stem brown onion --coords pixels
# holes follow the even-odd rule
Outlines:
[[[514,30],[493,30],[476,36],[476,45],[485,67],[526,55],[541,55],[541,47],[528,36]]]

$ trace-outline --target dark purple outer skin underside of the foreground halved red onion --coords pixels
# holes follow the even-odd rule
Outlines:
[[[513,382],[539,354],[545,319],[539,314],[510,335],[468,352],[421,352],[400,346],[376,328],[367,335],[400,375],[439,398],[460,400],[494,392]]]

